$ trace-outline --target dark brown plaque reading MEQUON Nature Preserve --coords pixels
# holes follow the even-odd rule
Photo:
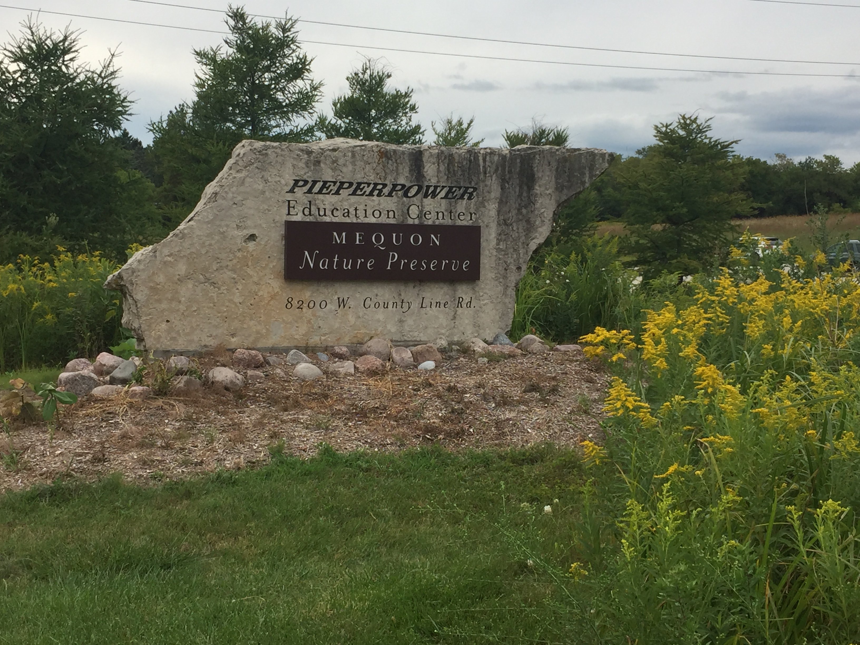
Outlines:
[[[481,279],[481,227],[284,223],[284,279]]]

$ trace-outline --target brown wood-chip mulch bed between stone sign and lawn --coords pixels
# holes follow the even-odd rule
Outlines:
[[[200,368],[223,362],[211,356]],[[458,450],[603,439],[607,377],[599,365],[566,353],[486,365],[461,356],[433,372],[392,369],[375,378],[302,382],[289,366],[262,372],[265,380],[236,394],[86,397],[63,409],[52,440],[44,424],[15,424],[0,435],[0,489],[114,472],[135,482],[179,479],[266,464],[271,450],[311,456],[322,443],[396,451],[433,442]]]

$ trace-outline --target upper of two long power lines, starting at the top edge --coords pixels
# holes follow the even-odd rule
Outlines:
[[[209,11],[216,14],[224,15],[223,9],[211,9],[209,7],[194,7],[189,4],[163,3],[156,0],[128,0],[132,3],[141,4],[157,4],[162,7],[173,7],[175,9],[195,9],[197,11]],[[282,20],[283,16],[264,15],[264,14],[249,14],[255,18],[271,18],[273,20]],[[306,22],[314,25],[326,25],[327,27],[346,27],[351,29],[370,29],[373,31],[384,31],[391,34],[408,34],[412,36],[433,36],[435,38],[451,38],[457,40],[476,40],[479,42],[497,42],[507,45],[528,45],[536,47],[555,47],[559,49],[577,49],[587,52],[612,52],[612,53],[632,53],[644,54],[648,56],[677,56],[681,58],[715,58],[720,60],[746,60],[756,63],[801,63],[801,64],[834,64],[834,65],[857,65],[860,63],[844,63],[835,60],[792,60],[787,58],[749,58],[743,56],[709,56],[707,54],[689,54],[689,53],[671,53],[671,52],[648,52],[637,49],[611,49],[609,47],[586,47],[578,45],[560,45],[557,43],[532,42],[529,40],[504,40],[501,38],[481,38],[479,36],[461,36],[455,34],[436,34],[433,32],[409,31],[407,29],[392,29],[385,27],[371,27],[369,25],[350,25],[345,22],[324,22],[321,20],[308,20],[306,18],[297,18],[296,22]]]

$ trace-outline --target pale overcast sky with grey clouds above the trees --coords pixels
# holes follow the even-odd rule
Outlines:
[[[136,101],[129,130],[148,143],[146,125],[180,101],[194,98],[193,47],[217,45],[223,36],[90,18],[46,10],[223,30],[223,15],[132,0],[0,0],[43,9],[52,28],[83,30],[85,58],[121,52],[121,83]],[[216,0],[165,0],[225,9]],[[815,2],[816,0],[812,0]],[[819,0],[820,1],[820,0]],[[838,155],[860,161],[860,0],[857,8],[806,6],[756,0],[400,0],[354,2],[248,0],[252,14],[290,15],[308,21],[407,29],[501,40],[703,56],[827,61],[797,64],[594,52],[436,36],[392,34],[300,22],[300,38],[347,46],[306,44],[313,74],[325,83],[321,109],[346,89],[346,76],[365,56],[383,58],[397,87],[415,89],[419,119],[453,112],[475,116],[485,145],[501,144],[501,132],[537,117],[566,126],[571,144],[633,154],[652,138],[652,126],[679,113],[713,116],[721,138],[741,139],[737,151],[771,159]],[[0,8],[0,27],[15,34],[28,12]],[[9,36],[4,34],[4,40]],[[537,58],[580,64],[697,70],[657,71],[568,64],[456,58],[386,52],[373,46]],[[842,62],[848,64],[833,64]],[[851,64],[857,63],[857,64]],[[769,71],[857,77],[753,76],[702,71]],[[432,135],[432,133],[430,133]]]

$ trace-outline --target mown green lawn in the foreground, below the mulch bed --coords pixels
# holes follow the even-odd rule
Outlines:
[[[581,479],[550,447],[323,449],[5,494],[0,642],[576,642]]]

